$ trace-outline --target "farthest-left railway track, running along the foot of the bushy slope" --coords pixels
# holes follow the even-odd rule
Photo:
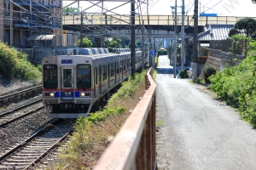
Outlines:
[[[7,101],[19,98],[21,96],[25,96],[28,94],[32,94],[34,92],[38,92],[42,89],[42,85],[32,87],[32,88],[26,88],[26,89],[19,89],[19,91],[15,91],[13,93],[8,93],[0,96],[0,104],[3,104]]]

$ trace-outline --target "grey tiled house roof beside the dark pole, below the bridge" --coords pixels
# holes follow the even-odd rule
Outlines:
[[[198,41],[225,40],[229,37],[229,31],[234,25],[207,25],[205,31],[198,34]]]

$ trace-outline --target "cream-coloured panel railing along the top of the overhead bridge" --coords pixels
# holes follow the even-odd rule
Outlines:
[[[81,25],[80,15],[62,15],[62,24],[63,25]],[[206,26],[207,24],[229,24],[235,25],[237,20],[240,20],[244,17],[236,16],[199,16],[198,25]],[[256,19],[255,17],[253,19]],[[148,16],[141,15],[135,17],[135,24],[137,26],[142,24],[144,20],[144,25],[148,25]],[[149,15],[149,24],[154,26],[173,26],[174,25],[174,16],[172,15]],[[177,20],[182,20],[182,16],[178,15]],[[107,22],[106,22],[107,21]],[[105,26],[107,23],[108,26],[118,25],[118,26],[127,26],[130,25],[130,15],[103,15],[103,14],[85,14],[83,25],[85,26]],[[193,15],[185,16],[185,26],[194,26]]]

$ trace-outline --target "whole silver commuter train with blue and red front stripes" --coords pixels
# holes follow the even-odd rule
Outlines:
[[[147,63],[148,55],[143,56],[137,48],[136,71]],[[43,104],[47,116],[89,116],[93,105],[108,99],[110,92],[131,75],[131,50],[71,48],[67,55],[44,57],[42,67]]]

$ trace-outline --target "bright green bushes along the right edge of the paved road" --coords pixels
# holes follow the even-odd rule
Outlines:
[[[250,52],[240,65],[225,68],[209,77],[210,88],[220,99],[239,107],[243,119],[256,127],[256,52]]]

